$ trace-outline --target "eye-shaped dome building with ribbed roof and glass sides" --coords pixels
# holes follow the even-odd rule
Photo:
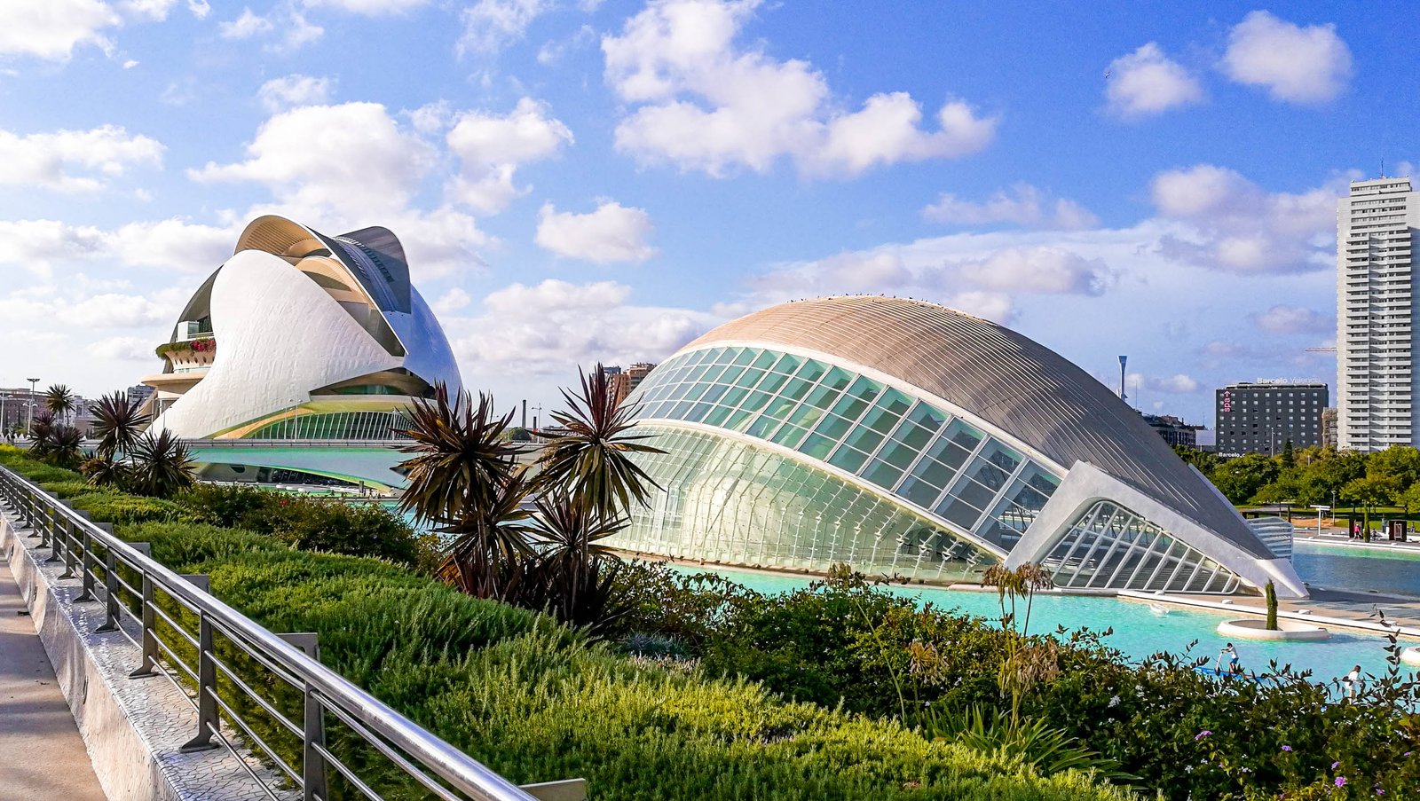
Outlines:
[[[1252,528],[1093,376],[940,305],[838,297],[724,324],[628,403],[662,487],[612,544],[950,584],[1044,562],[1079,591],[1305,596]]]

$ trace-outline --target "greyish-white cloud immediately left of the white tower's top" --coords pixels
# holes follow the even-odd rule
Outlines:
[[[1345,178],[1294,195],[1265,192],[1235,170],[1197,165],[1154,176],[1159,213],[1194,227],[1166,236],[1160,251],[1174,260],[1237,273],[1299,273],[1333,264],[1336,197]]]

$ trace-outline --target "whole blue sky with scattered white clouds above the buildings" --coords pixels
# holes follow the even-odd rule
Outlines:
[[[1389,9],[1386,9],[1389,6]],[[1409,3],[7,0],[0,386],[160,369],[266,213],[403,241],[558,405],[787,300],[1008,325],[1132,402],[1335,385],[1335,213],[1407,175]]]

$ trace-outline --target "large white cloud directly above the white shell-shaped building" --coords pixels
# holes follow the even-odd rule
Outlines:
[[[209,162],[187,175],[263,183],[283,205],[317,219],[329,210],[351,219],[403,210],[436,158],[373,102],[284,111],[261,125],[246,152],[243,162]]]

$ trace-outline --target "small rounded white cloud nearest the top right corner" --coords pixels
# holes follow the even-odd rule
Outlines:
[[[1268,11],[1252,11],[1231,30],[1221,65],[1234,81],[1296,104],[1335,98],[1352,74],[1350,48],[1336,26],[1301,27]]]

